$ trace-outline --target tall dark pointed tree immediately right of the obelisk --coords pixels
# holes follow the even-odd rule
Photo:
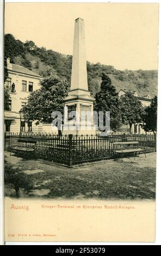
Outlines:
[[[101,90],[96,93],[94,108],[97,111],[110,112],[110,130],[116,131],[121,126],[120,100],[110,78],[103,72]],[[105,125],[105,117],[103,120]]]

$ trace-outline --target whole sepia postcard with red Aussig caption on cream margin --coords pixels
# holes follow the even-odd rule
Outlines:
[[[82,217],[85,211],[88,227],[89,215],[96,223],[95,214],[105,217],[107,211],[115,211],[108,222],[123,216],[123,225],[127,210],[138,218],[137,231],[130,236],[128,226],[126,234],[115,230],[103,241],[154,241],[158,8],[5,3],[6,241],[100,241],[104,233],[91,234],[98,227],[84,239],[76,234],[82,222],[71,236],[67,228],[59,236],[36,236],[37,225],[32,235],[17,234],[33,230],[38,212],[41,221],[53,213],[78,223],[76,212]],[[29,227],[21,225],[30,211]]]

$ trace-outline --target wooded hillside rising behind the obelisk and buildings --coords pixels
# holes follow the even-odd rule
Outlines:
[[[23,65],[41,76],[57,74],[69,83],[71,79],[72,56],[64,55],[45,47],[37,47],[33,41],[23,43],[16,40],[13,35],[4,36],[4,56],[10,57],[11,63]],[[112,80],[117,91],[127,89],[137,91],[138,96],[150,94],[157,95],[158,71],[157,70],[116,70],[114,66],[101,63],[87,62],[88,85],[90,92],[95,95],[100,90],[102,72]]]

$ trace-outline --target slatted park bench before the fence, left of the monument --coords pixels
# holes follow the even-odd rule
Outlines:
[[[30,154],[35,151],[35,145],[36,141],[34,141],[33,139],[18,139],[17,145],[10,148],[10,155],[11,151],[14,150],[17,153],[17,157],[18,155],[20,155],[20,153],[23,154],[24,157],[30,156]]]

